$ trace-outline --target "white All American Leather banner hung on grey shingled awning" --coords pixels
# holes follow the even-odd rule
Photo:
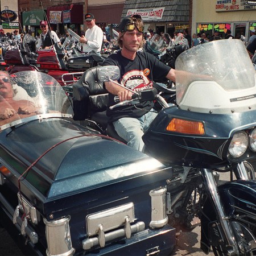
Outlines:
[[[143,20],[158,20],[162,19],[164,7],[150,8],[150,9],[129,9],[128,15],[138,14],[141,15]]]

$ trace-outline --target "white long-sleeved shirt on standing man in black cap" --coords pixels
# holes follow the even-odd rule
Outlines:
[[[85,38],[88,40],[87,44],[82,44],[83,52],[90,51],[101,51],[101,46],[103,42],[103,31],[97,25],[94,25],[92,28],[88,28],[85,32]]]

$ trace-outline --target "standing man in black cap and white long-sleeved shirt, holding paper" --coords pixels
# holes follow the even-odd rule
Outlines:
[[[85,22],[88,30],[86,30],[85,35],[80,38],[82,51],[86,53],[95,51],[100,54],[103,42],[103,31],[95,24],[94,15],[92,13],[85,14]]]

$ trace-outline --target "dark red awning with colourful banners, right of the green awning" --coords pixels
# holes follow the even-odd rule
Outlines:
[[[82,5],[57,5],[47,8],[47,18],[50,24],[83,23]]]

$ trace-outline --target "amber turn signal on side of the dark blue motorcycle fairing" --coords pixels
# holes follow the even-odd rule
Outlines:
[[[174,133],[204,135],[204,124],[203,122],[174,118],[168,124],[166,130]]]

